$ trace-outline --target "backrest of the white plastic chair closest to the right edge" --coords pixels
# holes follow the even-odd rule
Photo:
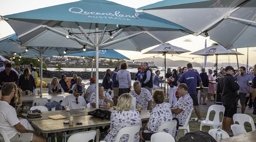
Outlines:
[[[249,122],[252,126],[252,130],[255,130],[254,121],[251,116],[247,114],[234,114],[233,115],[234,123],[238,122],[244,128],[244,122]]]

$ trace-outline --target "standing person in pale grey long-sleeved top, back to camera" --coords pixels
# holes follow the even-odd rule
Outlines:
[[[130,72],[127,70],[127,63],[124,62],[121,64],[121,70],[116,74],[116,81],[119,83],[118,96],[129,93],[132,88],[132,78]]]

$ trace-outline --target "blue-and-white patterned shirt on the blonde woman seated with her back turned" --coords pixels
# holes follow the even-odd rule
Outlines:
[[[125,126],[141,124],[140,113],[138,111],[114,111],[110,116],[110,131],[104,138],[106,142],[115,142],[117,133]],[[119,142],[127,142],[129,135],[123,135]],[[135,134],[134,142],[139,142],[139,133]]]

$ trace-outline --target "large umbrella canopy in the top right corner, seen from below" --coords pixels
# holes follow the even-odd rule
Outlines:
[[[196,35],[209,35],[227,49],[256,47],[255,0],[166,0],[139,10],[172,21]]]

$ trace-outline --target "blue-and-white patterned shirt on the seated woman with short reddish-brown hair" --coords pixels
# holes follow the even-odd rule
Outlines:
[[[148,130],[145,133],[157,133],[159,126],[166,122],[172,120],[172,111],[169,106],[165,104],[157,104],[155,108],[151,110]],[[164,129],[164,132],[168,133],[168,129]]]

